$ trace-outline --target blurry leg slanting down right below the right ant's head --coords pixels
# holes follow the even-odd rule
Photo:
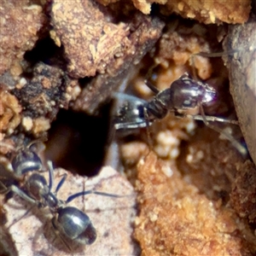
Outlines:
[[[242,146],[241,143],[237,142],[234,137],[232,137],[228,132],[223,131],[223,130],[219,129],[216,126],[213,126],[213,125],[209,124],[209,122],[207,121],[206,115],[204,113],[204,110],[203,110],[201,105],[200,105],[200,111],[201,111],[201,116],[202,116],[202,119],[203,119],[203,122],[205,123],[205,125],[207,125],[212,130],[217,131],[218,133],[224,135],[224,137],[226,137],[230,141],[230,143],[233,145],[233,147],[235,147],[243,157],[247,156],[247,148]]]

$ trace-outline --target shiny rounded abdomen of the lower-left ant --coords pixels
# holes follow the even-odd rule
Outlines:
[[[56,230],[69,239],[90,245],[96,241],[96,229],[90,218],[76,207],[64,207],[58,210],[58,217],[52,219]]]

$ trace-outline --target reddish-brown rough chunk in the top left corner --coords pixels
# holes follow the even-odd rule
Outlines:
[[[18,76],[22,73],[20,61],[38,40],[38,31],[46,19],[41,6],[26,0],[1,1],[0,16],[0,74],[10,69]]]

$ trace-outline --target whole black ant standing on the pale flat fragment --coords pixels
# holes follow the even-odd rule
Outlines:
[[[51,161],[47,161],[49,172],[49,183],[45,177],[40,174],[43,169],[43,164],[38,154],[36,154],[31,146],[19,150],[11,161],[15,177],[24,178],[24,186],[11,184],[8,188],[3,186],[3,193],[13,192],[19,195],[25,201],[30,202],[38,208],[49,207],[49,211],[54,215],[51,222],[55,229],[60,234],[61,240],[71,250],[67,242],[62,238],[66,236],[72,241],[77,241],[80,244],[90,245],[96,241],[96,229],[90,221],[88,215],[80,211],[76,207],[68,207],[67,204],[81,195],[103,195],[111,197],[124,197],[123,195],[113,195],[96,190],[87,190],[70,195],[66,201],[57,198],[57,192],[67,178],[67,174],[61,178],[56,189],[52,192],[54,182],[54,168]]]

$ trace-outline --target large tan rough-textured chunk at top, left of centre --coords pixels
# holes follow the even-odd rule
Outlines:
[[[126,4],[122,8],[102,9],[90,0],[54,1],[51,23],[64,45],[68,73],[72,77],[91,77],[96,73],[113,76],[126,58],[130,56],[138,62],[145,54],[140,50],[144,52],[154,45],[163,23],[130,9]],[[132,18],[125,14],[129,11],[134,12]],[[117,23],[119,16],[115,12],[122,12],[127,21]]]

